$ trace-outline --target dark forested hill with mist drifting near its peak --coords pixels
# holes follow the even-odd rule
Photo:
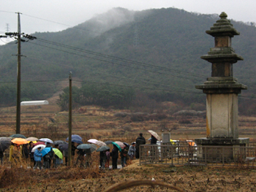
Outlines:
[[[21,98],[46,99],[59,91],[60,80],[67,80],[72,71],[82,83],[108,82],[154,92],[162,100],[201,101],[205,95],[195,85],[211,76],[211,64],[200,56],[214,47],[214,38],[205,31],[218,19],[174,8],[141,12],[115,8],[64,31],[31,34],[37,39],[21,47],[26,55],[21,61]],[[245,93],[251,95],[256,82],[256,28],[231,23],[241,33],[233,38],[232,47],[244,57],[233,65],[234,76],[248,85]],[[10,95],[15,92],[17,58],[12,55],[17,45],[1,46],[0,53],[1,104],[15,103],[15,95]]]

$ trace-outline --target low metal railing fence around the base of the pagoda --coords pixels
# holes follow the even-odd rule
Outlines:
[[[140,164],[255,167],[256,145],[191,146],[188,142],[140,145]]]

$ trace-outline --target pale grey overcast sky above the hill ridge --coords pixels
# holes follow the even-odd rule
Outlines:
[[[76,26],[94,15],[113,7],[130,10],[175,7],[188,12],[220,14],[244,22],[256,22],[256,0],[0,0],[0,35],[17,31],[17,14],[20,12],[21,31],[25,34],[44,31],[61,31]],[[207,28],[206,28],[207,29]],[[0,44],[3,44],[1,39]]]

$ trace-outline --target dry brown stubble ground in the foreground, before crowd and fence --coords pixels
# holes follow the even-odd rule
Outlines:
[[[50,170],[0,169],[1,191],[107,191],[131,181],[161,182],[180,191],[255,191],[256,170],[207,166],[139,166],[124,169],[67,168]],[[153,181],[152,181],[153,180]],[[177,191],[160,185],[129,186],[124,191]]]

